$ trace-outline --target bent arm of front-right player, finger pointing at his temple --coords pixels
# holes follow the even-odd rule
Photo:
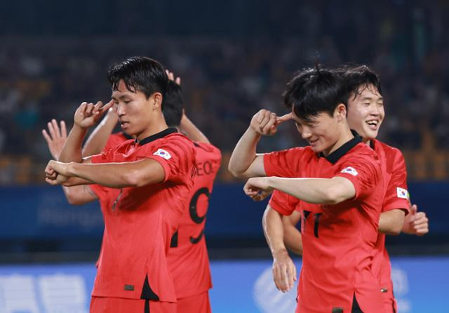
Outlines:
[[[277,126],[291,119],[291,114],[276,116],[275,113],[261,109],[251,119],[250,126],[237,142],[228,169],[239,178],[267,175],[264,170],[263,155],[256,154],[257,142],[262,135],[274,135]]]

